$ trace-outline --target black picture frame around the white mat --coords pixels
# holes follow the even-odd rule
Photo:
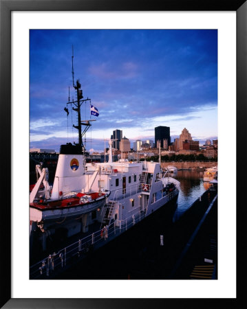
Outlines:
[[[235,11],[237,13],[237,298],[236,299],[12,299],[11,298],[11,12],[12,11]],[[1,308],[244,308],[246,210],[244,143],[247,109],[246,0],[0,0]],[[234,151],[234,150],[233,150]],[[231,163],[229,162],[229,165]],[[234,184],[233,184],[234,185]],[[230,250],[230,249],[229,249]]]

